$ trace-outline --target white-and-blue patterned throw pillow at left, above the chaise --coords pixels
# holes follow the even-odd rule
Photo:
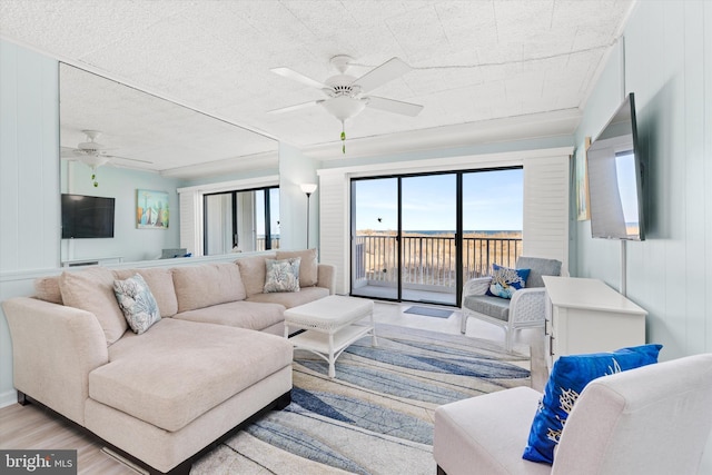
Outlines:
[[[113,293],[134,333],[140,335],[160,320],[154,294],[139,274],[126,280],[115,280]]]

